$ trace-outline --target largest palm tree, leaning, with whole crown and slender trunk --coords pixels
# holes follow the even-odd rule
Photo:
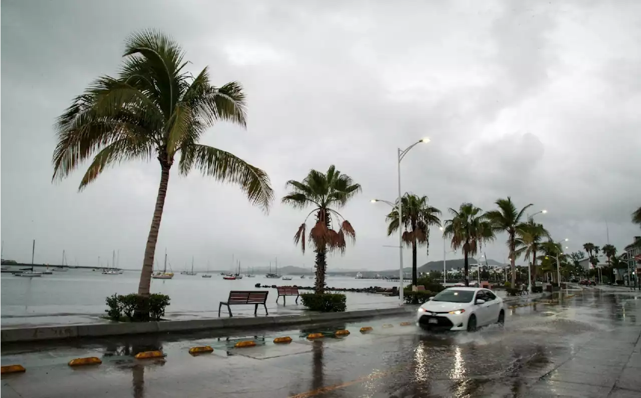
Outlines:
[[[207,68],[196,77],[185,70],[183,49],[158,31],[141,31],[125,42],[117,77],[91,83],[59,118],[53,180],[60,180],[93,156],[79,190],[108,166],[158,159],[160,185],[140,272],[138,294],[146,305],[169,171],[203,175],[240,186],[249,202],[267,211],[274,198],[265,171],[224,150],[198,143],[219,120],[245,126],[246,102],[237,82],[216,87]],[[141,317],[145,311],[140,310]]]

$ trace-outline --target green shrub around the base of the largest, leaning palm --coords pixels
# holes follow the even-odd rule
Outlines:
[[[145,302],[146,301],[146,302]],[[142,319],[135,318],[135,312],[139,308],[148,306],[148,318],[153,321],[160,321],[165,315],[165,307],[169,305],[169,296],[166,294],[151,294],[149,299],[144,300],[138,294],[113,294],[106,298],[107,317],[112,321],[139,322]]]

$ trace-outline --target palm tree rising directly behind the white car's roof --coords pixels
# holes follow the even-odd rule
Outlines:
[[[492,225],[483,218],[481,209],[472,203],[462,203],[458,211],[449,209],[452,218],[445,220],[443,236],[451,238],[454,250],[463,250],[465,286],[470,285],[469,256],[476,255],[483,243],[494,240]]]

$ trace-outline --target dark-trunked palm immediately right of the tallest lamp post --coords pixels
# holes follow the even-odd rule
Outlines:
[[[429,255],[429,227],[440,225],[441,211],[428,204],[427,196],[405,193],[401,198],[403,209],[403,242],[412,246],[412,285],[417,284],[417,246],[424,244]],[[398,204],[398,203],[397,203]],[[387,235],[399,229],[399,213],[393,210],[387,215]]]

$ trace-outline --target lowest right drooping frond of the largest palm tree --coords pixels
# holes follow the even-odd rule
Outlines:
[[[194,167],[203,175],[240,186],[250,203],[269,212],[274,190],[265,171],[218,148],[190,145],[189,150],[193,151]]]

